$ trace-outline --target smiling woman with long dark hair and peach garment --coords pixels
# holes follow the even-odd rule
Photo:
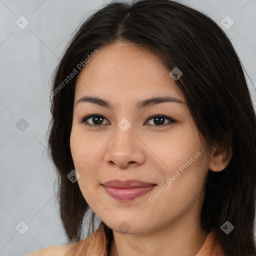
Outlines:
[[[69,244],[29,255],[256,255],[255,112],[209,17],[170,0],[107,4],[70,41],[51,100]]]

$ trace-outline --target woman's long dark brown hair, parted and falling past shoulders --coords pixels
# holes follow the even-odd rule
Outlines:
[[[100,52],[101,46],[118,40],[156,53],[168,70],[178,67],[183,74],[176,85],[207,148],[218,144],[232,148],[224,170],[208,170],[200,224],[207,232],[216,230],[226,256],[256,255],[256,119],[242,64],[227,35],[211,18],[172,0],[106,4],[78,27],[55,69],[48,143],[59,177],[60,217],[68,241],[81,239],[90,208],[77,182],[67,178],[74,169],[69,137],[78,74],[65,78],[74,69],[79,73],[77,64],[85,66],[84,59],[95,49]],[[92,232],[94,216],[92,212]],[[221,230],[225,221],[234,226],[229,234]],[[111,239],[111,229],[103,225]]]

